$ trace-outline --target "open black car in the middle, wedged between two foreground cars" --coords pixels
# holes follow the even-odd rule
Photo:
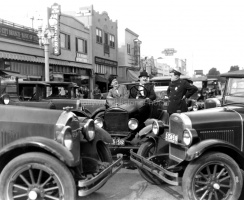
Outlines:
[[[125,84],[130,91],[129,98],[107,99],[106,110],[94,118],[95,123],[112,136],[113,144],[109,145],[112,154],[123,153],[125,158],[126,155],[129,156],[130,149],[135,152],[138,150],[143,141],[143,138],[138,137],[139,132],[150,123],[151,118],[168,119],[162,99],[148,101],[136,99],[136,96],[132,95],[134,92],[131,91],[136,90],[136,84]],[[141,110],[142,107],[145,109]]]

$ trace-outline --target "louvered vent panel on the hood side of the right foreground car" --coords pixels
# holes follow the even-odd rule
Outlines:
[[[234,144],[234,130],[209,130],[200,131],[199,137],[201,140],[220,139],[231,144]]]

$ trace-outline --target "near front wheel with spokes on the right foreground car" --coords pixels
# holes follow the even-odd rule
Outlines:
[[[187,200],[200,199],[204,194],[206,196],[202,199],[237,200],[242,185],[242,172],[235,160],[218,152],[207,153],[192,161],[182,179],[183,195]],[[218,198],[215,198],[215,195],[218,195]]]

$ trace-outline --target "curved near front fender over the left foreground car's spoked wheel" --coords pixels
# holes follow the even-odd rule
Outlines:
[[[57,157],[69,167],[76,166],[80,162],[80,159],[75,160],[72,153],[57,141],[44,137],[26,137],[4,146],[0,151],[0,163],[7,164],[6,160],[10,161],[13,156],[15,157],[22,153],[43,151]]]

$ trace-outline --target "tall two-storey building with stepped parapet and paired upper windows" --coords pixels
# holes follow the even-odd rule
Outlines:
[[[96,12],[93,5],[66,12],[90,29],[94,83],[102,92],[109,89],[118,67],[118,23],[107,12]]]

